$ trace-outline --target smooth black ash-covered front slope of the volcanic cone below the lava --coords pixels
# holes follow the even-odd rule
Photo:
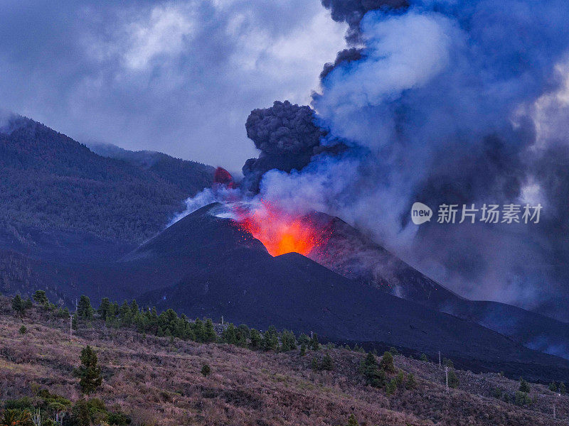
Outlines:
[[[479,324],[356,283],[297,253],[273,258],[224,217],[220,204],[189,214],[120,264],[129,271],[125,288],[138,277],[141,290],[155,290],[137,300],[159,309],[173,307],[191,317],[223,315],[260,329],[274,324],[314,331],[335,341],[381,342],[429,354],[441,350],[471,368],[569,377],[568,361],[526,349]],[[144,271],[148,278],[140,280]]]

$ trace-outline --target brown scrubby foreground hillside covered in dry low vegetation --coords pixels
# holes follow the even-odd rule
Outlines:
[[[22,324],[26,334],[18,332]],[[68,324],[41,307],[17,318],[0,297],[0,408],[38,388],[77,401],[73,368],[90,344],[103,376],[90,398],[126,413],[134,426],[336,426],[351,414],[360,425],[380,426],[560,426],[569,420],[568,396],[546,386],[531,383],[526,405],[506,403],[501,395],[514,395],[519,383],[499,374],[457,370],[458,387],[447,394],[437,364],[395,356],[395,368],[406,378],[412,373],[416,385],[388,395],[366,385],[359,368],[365,354],[356,351],[252,351],[107,328],[100,320],[80,322],[70,342]],[[332,370],[315,371],[312,359],[326,354]],[[200,373],[204,364],[208,376]]]

